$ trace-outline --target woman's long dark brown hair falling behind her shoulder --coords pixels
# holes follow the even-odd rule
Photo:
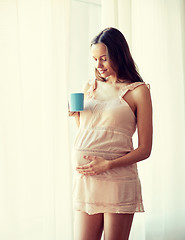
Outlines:
[[[92,40],[91,46],[97,43],[105,44],[111,67],[117,74],[117,82],[143,82],[131,56],[128,43],[118,29],[104,29]],[[98,80],[106,81],[97,69],[95,69],[95,75]]]

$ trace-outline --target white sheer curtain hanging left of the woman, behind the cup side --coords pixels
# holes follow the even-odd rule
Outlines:
[[[72,239],[70,1],[0,0],[0,239]]]

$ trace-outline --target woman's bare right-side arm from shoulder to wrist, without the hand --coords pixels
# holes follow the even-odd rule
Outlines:
[[[150,156],[152,149],[152,101],[147,86],[140,86],[133,91],[137,111],[138,147],[127,155],[110,161],[110,168],[127,166]]]

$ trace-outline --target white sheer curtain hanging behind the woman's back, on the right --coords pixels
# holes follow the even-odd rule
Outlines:
[[[103,27],[128,39],[153,99],[153,151],[138,164],[146,212],[136,214],[130,239],[184,240],[185,2],[102,0],[102,11]]]

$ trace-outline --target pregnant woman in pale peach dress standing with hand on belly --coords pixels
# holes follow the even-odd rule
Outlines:
[[[84,87],[85,106],[75,116],[72,157],[75,240],[127,240],[143,212],[137,162],[152,148],[152,103],[123,34],[107,28],[91,42],[95,79]],[[138,146],[132,137],[137,128]]]

